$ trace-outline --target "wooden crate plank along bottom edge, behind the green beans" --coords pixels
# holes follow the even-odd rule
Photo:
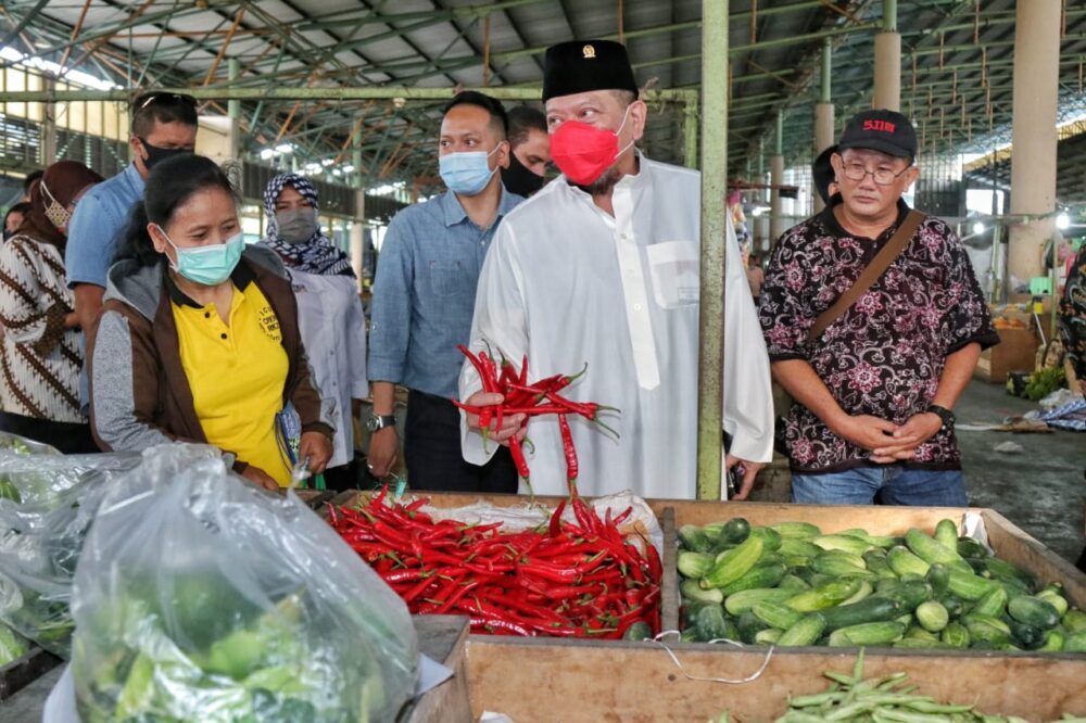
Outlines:
[[[761,665],[765,650],[728,652],[719,646],[684,646],[675,655],[685,671],[703,677],[743,678]],[[818,693],[823,671],[850,672],[855,651],[805,648],[774,652],[752,683],[690,681],[658,645],[594,643],[555,645],[542,639],[480,638],[468,643],[471,709],[514,721],[772,720],[790,695]],[[1086,661],[1071,656],[868,655],[866,675],[906,672],[923,693],[943,702],[977,703],[988,713],[1051,721],[1086,714]]]

